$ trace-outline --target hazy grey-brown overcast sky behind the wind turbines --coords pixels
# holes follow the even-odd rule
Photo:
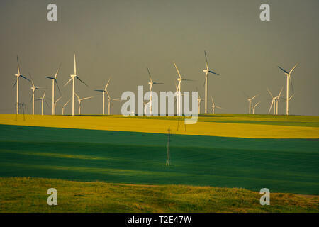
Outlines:
[[[57,4],[57,22],[47,21],[50,3]],[[262,3],[270,5],[271,21],[260,21]],[[182,90],[198,87],[203,96],[206,50],[211,70],[221,74],[209,77],[208,95],[225,108],[222,112],[247,113],[245,92],[260,94],[256,112],[267,114],[271,100],[266,87],[278,94],[286,84],[277,66],[290,70],[298,62],[292,74],[296,94],[289,103],[291,114],[318,116],[318,9],[318,0],[1,0],[0,113],[13,113],[16,55],[22,74],[30,72],[35,85],[47,87],[50,99],[51,82],[45,76],[54,74],[62,63],[57,76],[62,104],[72,94],[72,87],[63,84],[73,74],[76,52],[78,75],[91,87],[77,83],[77,93],[95,96],[83,101],[82,114],[101,114],[101,94],[93,89],[101,89],[109,77],[109,92],[117,99],[125,91],[136,92],[138,85],[149,89],[146,67],[155,81],[164,82],[154,87],[155,92],[174,91],[173,61],[184,77],[196,80],[184,82]],[[20,91],[30,113],[30,83],[21,79]],[[120,107],[114,104],[112,113],[120,114]],[[281,101],[280,114],[285,107]],[[70,106],[66,111],[70,114]],[[36,113],[40,114],[40,103]],[[50,113],[51,106],[45,106],[45,114]]]

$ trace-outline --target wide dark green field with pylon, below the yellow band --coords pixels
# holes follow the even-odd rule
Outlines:
[[[0,125],[0,177],[319,194],[318,139],[221,138]]]

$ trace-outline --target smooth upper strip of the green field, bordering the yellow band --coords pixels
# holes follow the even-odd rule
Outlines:
[[[0,141],[86,142],[121,145],[166,145],[167,136],[159,133],[97,131],[73,128],[0,125]],[[201,148],[238,148],[318,152],[318,139],[258,139],[203,135],[172,135],[172,145]]]

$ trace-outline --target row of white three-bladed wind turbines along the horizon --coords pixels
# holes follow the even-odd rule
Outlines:
[[[206,67],[205,69],[203,69],[203,72],[205,74],[205,82],[204,82],[204,87],[205,87],[205,99],[201,99],[201,96],[198,94],[198,114],[201,114],[200,109],[201,109],[201,101],[205,101],[205,114],[208,113],[208,75],[213,74],[216,76],[220,76],[220,74],[213,72],[212,70],[209,69],[208,67],[208,60],[207,60],[207,55],[206,55],[206,51],[204,51],[205,54],[205,61],[206,61]],[[175,83],[175,87],[176,87],[176,92],[177,92],[177,116],[181,116],[182,115],[182,110],[180,108],[180,102],[181,102],[181,84],[183,81],[194,81],[191,79],[186,79],[184,76],[181,75],[181,73],[179,72],[179,68],[177,67],[176,63],[174,63],[174,67],[177,70],[177,84]],[[41,114],[43,115],[43,104],[44,102],[47,101],[45,100],[45,91],[43,93],[43,96],[40,96],[40,98],[35,99],[35,90],[37,89],[45,89],[43,87],[37,87],[35,86],[33,79],[31,77],[31,74],[29,74],[30,79],[28,79],[27,77],[23,76],[20,72],[20,65],[19,65],[19,61],[18,61],[18,56],[17,56],[17,64],[18,64],[18,74],[15,74],[16,76],[16,82],[13,84],[13,87],[16,85],[16,114],[19,113],[19,79],[26,79],[28,82],[31,83],[31,87],[30,89],[32,90],[32,114],[35,114],[34,111],[34,106],[35,106],[35,101],[41,101]],[[286,115],[289,115],[289,101],[292,99],[293,95],[289,97],[289,82],[291,82],[291,73],[293,72],[293,70],[296,68],[298,64],[296,64],[289,72],[284,70],[282,67],[279,67],[280,70],[282,70],[284,72],[284,74],[286,75]],[[60,91],[60,87],[57,84],[57,74],[59,73],[61,65],[57,68],[57,71],[55,72],[54,76],[47,76],[47,79],[51,79],[52,80],[52,115],[56,114],[56,106],[57,106],[57,102],[60,101],[62,99],[62,94]],[[152,115],[152,89],[153,86],[155,84],[164,84],[162,82],[154,82],[152,79],[152,75],[150,73],[149,68],[147,67],[147,72],[149,74],[150,77],[150,82],[148,82],[148,84],[150,84],[150,114]],[[67,81],[65,83],[65,86],[67,86],[67,84],[69,84],[70,82],[72,82],[72,116],[74,116],[74,96],[77,96],[77,101],[78,101],[78,114],[81,114],[81,104],[82,101],[86,100],[86,99],[91,99],[94,96],[89,96],[89,97],[84,97],[84,98],[80,98],[79,95],[75,92],[75,82],[76,79],[79,82],[82,82],[82,84],[84,84],[86,87],[89,87],[89,85],[87,85],[85,82],[82,81],[82,79],[79,78],[79,76],[77,75],[77,64],[76,64],[76,57],[74,54],[74,74],[70,74],[70,79],[69,81]],[[108,82],[106,83],[106,86],[103,89],[94,89],[95,92],[102,92],[102,114],[105,115],[105,96],[107,95],[107,99],[108,99],[108,114],[111,114],[111,103],[112,101],[121,101],[120,99],[113,99],[111,98],[110,94],[108,93],[108,84],[110,83],[110,79],[108,79]],[[58,99],[55,99],[55,85],[57,86],[58,92],[60,94],[60,97]],[[291,83],[292,85],[292,83]],[[270,113],[271,109],[273,109],[274,114],[278,114],[278,106],[279,106],[279,99],[281,99],[281,92],[283,90],[283,88],[281,88],[281,91],[279,92],[278,96],[273,96],[272,93],[269,91],[268,87],[267,90],[269,92],[269,94],[272,96],[272,103],[271,106],[269,108],[269,112]],[[252,98],[247,96],[247,101],[249,101],[249,114],[254,114],[256,107],[260,104],[260,101],[257,102],[257,104],[252,105],[252,100],[255,99],[257,96],[259,96],[259,94],[253,96]],[[69,101],[71,101],[71,99],[69,99],[67,102],[65,102],[65,104],[62,105],[62,115],[65,114],[65,107],[67,106],[67,104],[69,104]],[[48,106],[48,104],[47,104]],[[211,97],[211,113],[215,114],[215,109],[223,109],[220,106],[216,106],[213,97]]]

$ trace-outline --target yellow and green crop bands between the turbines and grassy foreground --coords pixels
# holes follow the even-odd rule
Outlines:
[[[23,116],[1,114],[0,177],[319,194],[318,117],[208,115],[198,120],[186,131],[180,121],[177,131],[174,117],[26,115],[23,121]],[[173,133],[169,167],[168,126]]]

